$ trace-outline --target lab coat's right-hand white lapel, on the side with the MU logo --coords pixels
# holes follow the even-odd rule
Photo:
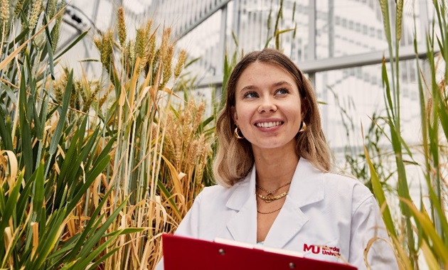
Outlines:
[[[308,217],[300,208],[324,200],[321,174],[309,161],[300,158],[282,210],[265,239],[266,246],[281,249],[302,229]]]

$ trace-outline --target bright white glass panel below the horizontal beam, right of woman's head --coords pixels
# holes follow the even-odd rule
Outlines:
[[[400,62],[400,76],[402,135],[405,141],[418,141],[420,134],[416,130],[421,122],[415,60]],[[316,95],[324,103],[321,104],[324,133],[336,156],[343,158],[344,147],[362,147],[361,124],[366,133],[373,114],[387,115],[381,65],[319,72],[315,85]]]

